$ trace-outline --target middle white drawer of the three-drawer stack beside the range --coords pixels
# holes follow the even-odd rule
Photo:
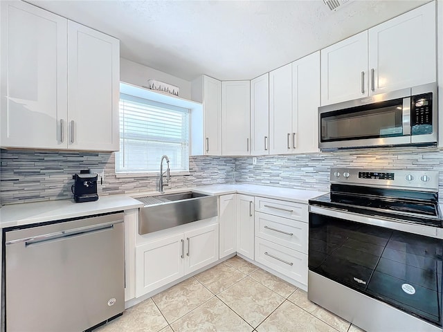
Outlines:
[[[307,254],[307,223],[255,212],[255,236]]]

